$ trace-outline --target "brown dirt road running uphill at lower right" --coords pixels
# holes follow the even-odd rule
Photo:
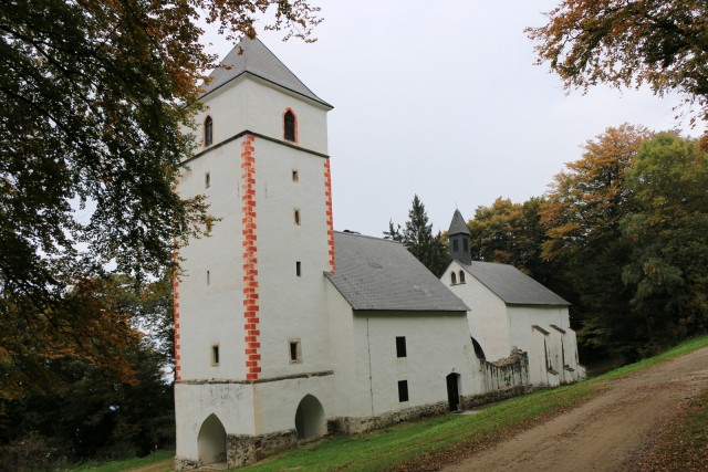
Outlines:
[[[632,471],[675,407],[708,389],[708,349],[654,366],[445,471]],[[708,468],[708,464],[707,464]]]

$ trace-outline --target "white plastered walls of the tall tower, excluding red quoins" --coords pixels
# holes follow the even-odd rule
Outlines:
[[[211,237],[180,248],[185,275],[179,284],[181,382],[175,386],[177,457],[196,460],[197,436],[216,415],[228,434],[260,434],[294,428],[294,412],[310,394],[333,409],[333,378],[240,382],[246,377],[242,296],[241,144],[249,130],[277,141],[283,114],[298,119],[296,143],[256,137],[256,211],[260,296],[261,378],[330,370],[325,280],[329,245],[324,162],[327,108],[260,78],[243,75],[204,98],[197,116],[195,150],[178,191],[206,195],[209,213],[221,218]],[[214,144],[204,145],[204,119],[214,123]],[[313,153],[308,153],[308,149]],[[298,171],[298,182],[293,181]],[[206,188],[206,174],[210,185]],[[293,222],[300,208],[302,223]],[[295,275],[302,262],[302,276]],[[207,271],[209,283],[207,284]],[[289,339],[299,338],[302,363],[291,364]],[[212,346],[219,346],[219,364]],[[195,381],[197,380],[197,381]],[[202,380],[209,380],[204,382]],[[220,382],[221,381],[221,382]],[[292,413],[292,415],[291,415]]]

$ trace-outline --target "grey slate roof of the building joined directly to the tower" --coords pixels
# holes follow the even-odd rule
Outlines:
[[[354,310],[467,312],[400,243],[334,233],[336,272],[326,276]]]

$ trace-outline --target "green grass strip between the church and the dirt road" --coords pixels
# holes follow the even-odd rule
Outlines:
[[[706,346],[708,336],[696,337],[603,376],[552,390],[538,390],[489,406],[476,415],[447,415],[366,434],[326,438],[240,470],[379,471],[440,465],[460,451],[479,450],[592,399],[608,388],[610,380]]]

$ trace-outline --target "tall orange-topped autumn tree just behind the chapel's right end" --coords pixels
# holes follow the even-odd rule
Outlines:
[[[626,346],[623,354],[634,356],[643,339],[631,316],[631,291],[622,283],[631,244],[621,220],[634,211],[625,171],[648,137],[645,128],[622,125],[589,140],[583,157],[555,177],[541,212],[542,256],[558,264],[569,285],[562,293],[574,305],[586,355]]]

